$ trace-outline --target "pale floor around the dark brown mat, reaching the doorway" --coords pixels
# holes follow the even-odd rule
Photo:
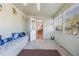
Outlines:
[[[57,50],[62,56],[71,56],[71,54],[63,49],[55,40],[34,40],[28,43],[24,49]]]

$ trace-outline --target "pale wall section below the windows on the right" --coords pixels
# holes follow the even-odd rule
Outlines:
[[[55,32],[55,40],[72,55],[79,56],[79,36]]]

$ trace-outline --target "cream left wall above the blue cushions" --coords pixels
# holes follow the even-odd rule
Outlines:
[[[13,32],[26,31],[24,14],[13,4],[2,4],[2,6],[3,9],[0,11],[0,35],[2,38],[10,36]],[[17,15],[12,14],[12,7],[16,9]]]

